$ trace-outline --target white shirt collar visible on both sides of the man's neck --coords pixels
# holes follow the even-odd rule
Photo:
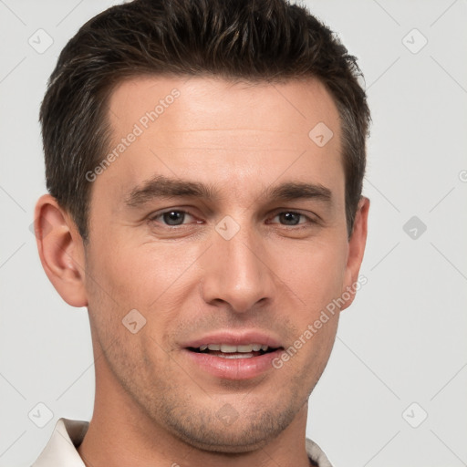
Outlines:
[[[59,419],[44,451],[31,467],[86,467],[77,447],[88,431],[88,421]],[[306,438],[306,453],[319,467],[332,467],[316,442]]]

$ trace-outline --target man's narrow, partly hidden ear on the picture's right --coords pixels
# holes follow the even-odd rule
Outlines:
[[[360,285],[358,272],[363,260],[363,254],[365,253],[365,245],[367,244],[368,211],[369,200],[362,196],[358,202],[354,228],[348,240],[348,259],[342,295],[346,294],[349,298],[341,309],[347,308],[354,301],[356,291],[358,290],[356,286]]]

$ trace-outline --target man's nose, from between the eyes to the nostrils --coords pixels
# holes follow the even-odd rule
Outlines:
[[[228,304],[233,312],[243,314],[272,301],[275,274],[257,233],[241,229],[230,240],[214,233],[207,253],[203,255],[201,281],[206,303]]]

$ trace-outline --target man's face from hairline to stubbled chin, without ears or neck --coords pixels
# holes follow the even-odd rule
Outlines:
[[[303,335],[356,279],[337,109],[316,81],[161,77],[109,109],[119,156],[92,183],[86,246],[98,384],[193,446],[260,445],[306,406],[338,313]]]

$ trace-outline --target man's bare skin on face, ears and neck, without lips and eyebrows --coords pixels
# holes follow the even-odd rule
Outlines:
[[[288,348],[357,282],[369,202],[359,203],[348,238],[336,106],[316,80],[132,78],[109,102],[112,143],[173,88],[180,97],[92,183],[88,244],[52,197],[37,202],[46,273],[68,304],[88,306],[96,400],[79,454],[93,467],[305,467],[307,400],[338,313],[282,368],[254,379],[205,373],[182,344],[255,329]],[[334,132],[322,148],[308,137],[318,122]],[[161,175],[202,182],[216,196],[128,205],[130,192]],[[331,199],[265,194],[283,182],[326,187]],[[190,215],[174,228],[155,217],[167,209]],[[304,215],[278,215],[290,212]],[[227,215],[240,226],[231,240],[215,230]],[[287,224],[291,217],[299,223]],[[131,309],[146,319],[136,334],[122,326]],[[230,424],[218,417],[226,404],[237,417]]]

